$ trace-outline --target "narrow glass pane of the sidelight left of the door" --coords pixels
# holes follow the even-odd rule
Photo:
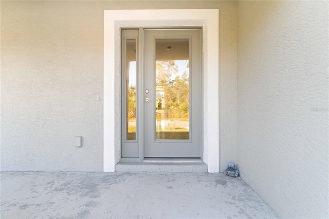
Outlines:
[[[126,140],[136,140],[136,40],[126,40]]]

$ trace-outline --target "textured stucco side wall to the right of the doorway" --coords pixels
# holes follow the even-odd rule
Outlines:
[[[237,164],[284,218],[328,218],[328,2],[239,2]]]

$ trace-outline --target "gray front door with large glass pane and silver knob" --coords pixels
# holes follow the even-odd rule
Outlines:
[[[143,33],[144,159],[200,159],[201,30]]]

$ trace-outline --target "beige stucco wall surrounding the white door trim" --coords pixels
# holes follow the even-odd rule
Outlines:
[[[198,8],[220,11],[223,171],[236,160],[237,3],[229,1],[1,1],[1,170],[103,171],[104,10]]]

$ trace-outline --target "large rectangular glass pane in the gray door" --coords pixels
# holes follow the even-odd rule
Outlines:
[[[190,138],[189,39],[156,39],[155,138]]]

